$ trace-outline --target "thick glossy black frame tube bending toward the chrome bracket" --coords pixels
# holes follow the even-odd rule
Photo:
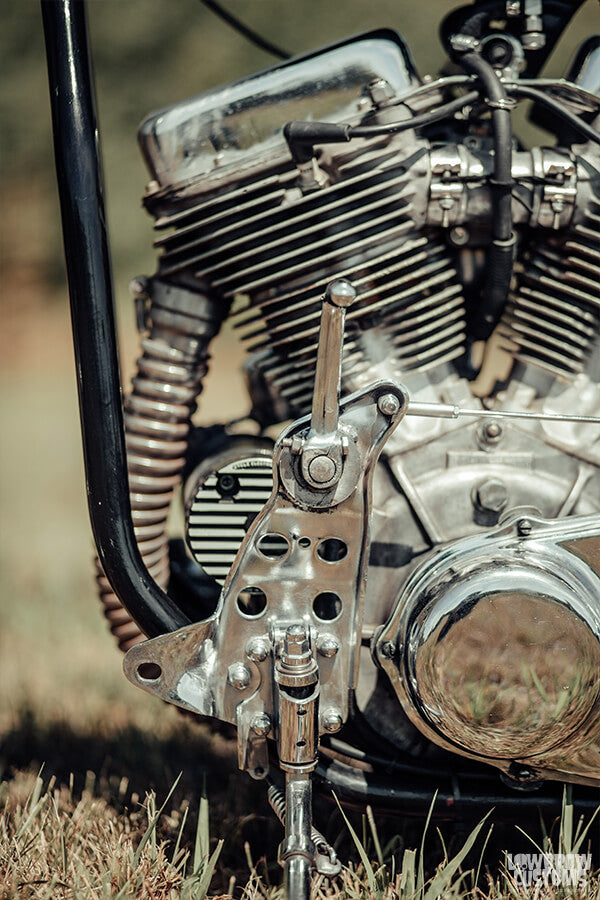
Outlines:
[[[85,0],[42,0],[87,497],[102,567],[148,637],[189,620],[148,574],[131,518]]]

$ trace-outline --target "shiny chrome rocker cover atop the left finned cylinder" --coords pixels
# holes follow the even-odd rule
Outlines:
[[[285,156],[283,126],[310,111],[321,121],[356,118],[365,86],[384,80],[395,94],[417,83],[408,50],[378,31],[259,72],[149,116],[140,143],[161,187],[219,182],[266,156]],[[318,113],[316,112],[318,110]]]

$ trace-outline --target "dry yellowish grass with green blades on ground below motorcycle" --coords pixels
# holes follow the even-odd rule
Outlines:
[[[203,796],[195,822],[195,839],[186,837],[189,807],[182,802],[169,808],[176,785],[160,808],[154,793],[143,803],[129,793],[123,778],[118,785],[118,802],[98,796],[95,777],[77,795],[73,779],[59,785],[55,778],[44,786],[38,775],[18,773],[0,787],[0,900],[74,900],[135,897],[140,900],[202,900],[214,898],[280,898],[281,887],[269,884],[252,861],[250,845],[244,849],[245,877],[229,874],[227,886],[211,892],[211,881],[219,862],[223,839],[211,842],[208,803]],[[118,804],[121,804],[120,808]],[[124,805],[125,804],[125,805]],[[127,805],[128,804],[128,805]],[[587,832],[567,834],[568,808],[563,815],[561,841],[567,848],[585,849]],[[345,818],[345,816],[344,816]],[[487,819],[487,817],[486,817]],[[510,874],[495,878],[483,873],[481,851],[476,871],[463,868],[467,854],[481,837],[486,819],[473,829],[460,850],[446,854],[435,871],[426,877],[424,837],[417,852],[405,849],[397,866],[392,856],[386,862],[372,813],[367,811],[371,861],[365,843],[359,840],[348,819],[359,861],[344,866],[332,880],[315,876],[313,897],[373,898],[373,900],[595,900],[600,896],[598,878],[585,885],[567,888],[519,887]],[[588,823],[589,828],[589,823]],[[488,831],[489,837],[489,831]],[[566,844],[565,840],[570,843]],[[485,846],[485,842],[484,842]],[[221,871],[220,879],[223,880]]]

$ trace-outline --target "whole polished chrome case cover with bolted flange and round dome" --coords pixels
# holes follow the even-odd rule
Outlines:
[[[590,548],[597,558],[596,517],[559,525],[521,515],[414,572],[375,652],[429,738],[505,770],[526,761],[544,777],[600,783],[600,577],[584,558]]]

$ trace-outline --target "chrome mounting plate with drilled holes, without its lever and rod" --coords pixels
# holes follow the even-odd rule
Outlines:
[[[398,399],[392,417],[377,405],[379,397],[389,395]],[[283,432],[275,448],[273,494],[244,539],[215,615],[133,647],[125,658],[125,672],[134,684],[238,726],[240,716],[249,728],[251,719],[263,712],[276,721],[270,674],[273,647],[281,628],[300,616],[315,645],[321,634],[337,640],[337,653],[320,654],[321,704],[347,718],[358,674],[371,479],[375,460],[405,408],[402,389],[389,382],[342,401],[338,428],[356,456],[351,455],[345,467],[348,476],[344,471],[339,484],[325,492],[298,483],[290,493],[297,477],[293,440],[302,440],[308,422],[300,420]],[[321,509],[326,515],[315,515]],[[272,535],[286,543],[283,556],[269,558],[261,552],[262,539]],[[268,647],[266,657],[256,654],[257,640]],[[241,691],[227,678],[234,663],[244,663],[250,671]],[[145,672],[156,677],[145,677]],[[327,729],[321,725],[321,730]]]

